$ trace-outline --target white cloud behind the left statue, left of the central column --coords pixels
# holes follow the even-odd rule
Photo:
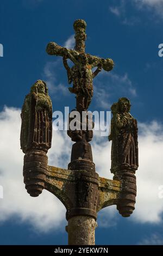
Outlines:
[[[0,199],[0,221],[6,221],[16,215],[18,220],[28,221],[41,231],[59,228],[65,220],[64,205],[46,190],[37,198],[30,197],[25,190],[22,174],[24,154],[20,150],[20,112],[20,109],[5,107],[0,114],[0,184],[4,189],[4,198]],[[60,147],[64,147],[63,140],[61,134],[53,136],[53,149],[49,152],[49,159],[51,154],[57,154],[57,149],[61,153]],[[68,143],[64,148],[69,153]],[[55,161],[54,164],[57,165],[57,156]]]

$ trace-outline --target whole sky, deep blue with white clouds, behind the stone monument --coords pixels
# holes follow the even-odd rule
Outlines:
[[[103,210],[98,217],[96,243],[163,243],[163,199],[158,198],[158,187],[163,184],[163,57],[158,55],[158,46],[163,43],[162,11],[162,0],[102,0],[100,4],[96,0],[1,1],[0,44],[4,52],[0,57],[0,185],[4,186],[4,199],[0,199],[0,244],[67,243],[65,209],[61,203],[46,191],[39,199],[30,198],[25,191],[19,145],[20,108],[38,79],[47,82],[53,110],[74,108],[74,96],[68,93],[61,59],[48,56],[45,48],[49,41],[73,46],[76,19],[87,23],[86,52],[115,62],[114,70],[101,72],[95,78],[90,109],[110,110],[118,97],[127,96],[140,129],[135,212],[125,219],[118,215],[115,206]],[[107,162],[110,144],[106,138],[96,142],[97,136],[92,142],[97,170],[101,176],[112,178]],[[70,144],[65,134],[56,133],[49,150],[50,163],[66,168]],[[58,149],[55,145],[59,145]]]

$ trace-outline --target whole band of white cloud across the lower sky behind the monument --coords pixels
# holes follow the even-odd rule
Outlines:
[[[63,228],[66,210],[59,200],[46,190],[43,190],[38,198],[32,198],[24,188],[20,126],[20,109],[5,107],[0,114],[0,185],[4,187],[4,199],[0,199],[0,221],[7,221],[16,215],[19,221],[26,221],[40,231],[60,226]],[[139,131],[140,167],[136,173],[136,209],[130,220],[140,223],[161,223],[163,199],[159,199],[158,193],[159,186],[163,185],[163,127],[156,121],[150,124],[139,123]],[[96,131],[91,144],[97,172],[100,176],[112,179],[111,143],[107,137],[99,137],[99,132]],[[66,131],[53,132],[52,149],[48,153],[49,164],[66,168],[70,161],[71,145],[71,139],[66,135]],[[116,207],[112,206],[101,212],[98,225],[110,225],[104,221],[105,216],[114,225],[117,218],[121,218]]]

